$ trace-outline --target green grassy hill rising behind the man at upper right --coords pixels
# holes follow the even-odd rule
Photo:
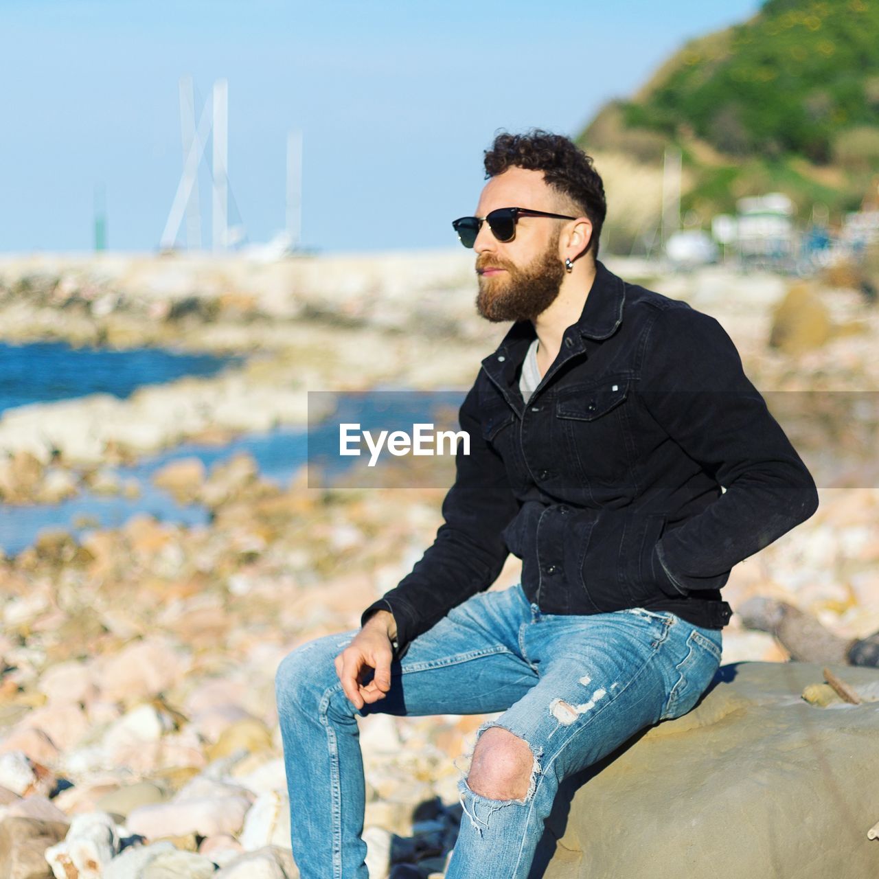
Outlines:
[[[879,0],[767,0],[687,44],[579,141],[643,164],[678,146],[682,207],[703,224],[767,191],[787,193],[803,220],[816,203],[838,219],[879,172]]]

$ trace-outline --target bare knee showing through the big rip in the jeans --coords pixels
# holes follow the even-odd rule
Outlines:
[[[492,800],[524,800],[534,772],[534,753],[503,727],[490,726],[476,741],[467,783]]]

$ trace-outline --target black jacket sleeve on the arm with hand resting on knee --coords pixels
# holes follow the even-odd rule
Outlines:
[[[367,607],[360,623],[378,610],[396,621],[395,658],[410,642],[453,607],[498,578],[509,552],[501,532],[518,512],[504,462],[483,439],[476,385],[461,404],[461,430],[469,434],[469,454],[459,440],[455,480],[443,501],[444,523],[411,573]]]

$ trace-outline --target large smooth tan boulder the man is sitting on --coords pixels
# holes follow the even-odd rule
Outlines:
[[[820,665],[724,666],[694,711],[571,780],[546,879],[872,879],[879,671],[831,668],[863,704],[803,701]]]

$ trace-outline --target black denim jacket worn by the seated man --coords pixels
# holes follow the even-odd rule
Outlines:
[[[534,335],[515,323],[483,360],[461,405],[470,454],[459,444],[445,523],[362,615],[394,614],[396,657],[487,589],[508,552],[544,613],[645,607],[723,628],[732,566],[817,509],[809,471],[713,317],[599,262],[582,315],[524,403]]]

